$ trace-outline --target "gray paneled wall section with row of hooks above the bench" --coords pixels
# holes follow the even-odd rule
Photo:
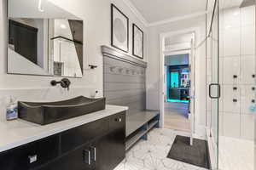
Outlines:
[[[102,54],[107,103],[129,106],[130,115],[146,110],[146,63],[105,46]]]

